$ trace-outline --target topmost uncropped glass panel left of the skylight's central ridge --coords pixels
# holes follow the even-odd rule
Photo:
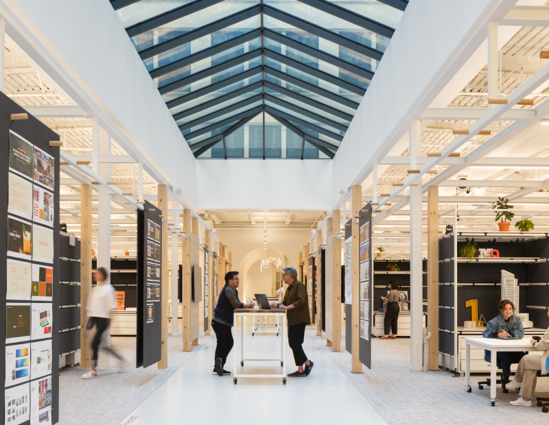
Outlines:
[[[242,34],[258,29],[260,26],[261,18],[259,15],[253,16],[242,22],[229,25],[229,27],[224,29],[220,29],[220,31],[213,32],[207,36],[187,42],[184,45],[174,47],[174,49],[170,49],[159,55],[152,56],[152,58],[143,60],[143,63],[145,64],[147,71],[150,72],[154,69],[176,62],[176,60],[187,58],[187,56],[191,56],[192,54],[198,53],[208,47],[212,47],[220,44],[221,42],[242,36]]]

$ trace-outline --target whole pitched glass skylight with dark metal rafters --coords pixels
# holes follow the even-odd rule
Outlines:
[[[196,158],[334,158],[408,0],[110,0]]]

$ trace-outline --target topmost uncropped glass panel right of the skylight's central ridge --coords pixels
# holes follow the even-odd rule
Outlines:
[[[347,62],[360,66],[368,71],[375,72],[377,65],[379,64],[379,62],[375,59],[364,56],[353,50],[349,50],[346,47],[336,44],[335,42],[326,40],[326,38],[315,36],[310,32],[304,31],[303,29],[294,27],[293,25],[279,21],[278,19],[274,19],[270,16],[264,16],[264,25],[271,31],[282,34],[288,38],[292,38],[292,40],[302,42],[309,47],[314,47],[315,49],[329,53],[342,60],[346,60]]]

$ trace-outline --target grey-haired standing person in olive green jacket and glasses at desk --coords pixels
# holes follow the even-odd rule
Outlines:
[[[282,269],[282,279],[288,285],[288,288],[286,288],[282,304],[277,304],[277,306],[286,309],[288,344],[294,352],[294,360],[298,367],[296,372],[288,376],[309,376],[314,363],[307,359],[307,355],[305,355],[302,347],[303,340],[305,339],[305,326],[311,324],[307,288],[297,280],[297,271],[294,267]]]

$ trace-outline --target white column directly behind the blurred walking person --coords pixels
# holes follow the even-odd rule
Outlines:
[[[96,119],[97,120],[97,119]],[[110,155],[110,136],[99,126],[93,125],[93,141],[97,140],[98,149],[92,151],[92,158],[99,158],[99,155]],[[97,130],[96,130],[97,129]],[[97,132],[97,134],[95,134]],[[97,153],[96,153],[97,150]],[[110,164],[98,164],[95,160],[93,167],[98,165],[98,173],[105,180],[110,180]],[[110,196],[109,189],[105,186],[97,186],[99,191],[97,205],[97,267],[104,267],[108,272],[110,283]],[[110,328],[105,331],[103,343],[110,347]],[[102,352],[98,358],[97,367],[108,369],[110,365],[110,354]]]

